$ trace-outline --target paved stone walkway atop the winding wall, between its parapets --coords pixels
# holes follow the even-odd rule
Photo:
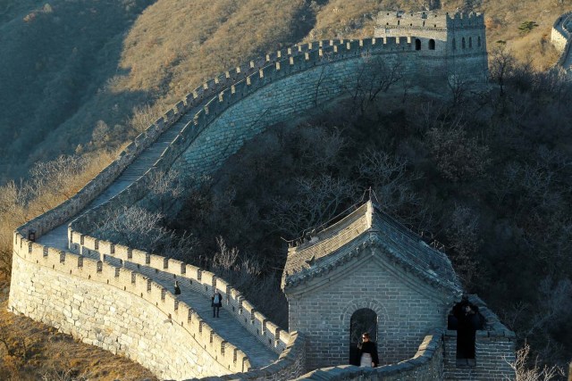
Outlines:
[[[181,117],[181,120],[158,137],[153,145],[150,145],[145,151],[140,153],[139,156],[131,162],[130,166],[115,179],[114,183],[108,186],[107,189],[105,189],[101,195],[97,196],[92,203],[89,203],[84,211],[88,211],[97,205],[105,203],[114,195],[121,193],[122,190],[129,186],[133,181],[143,176],[143,174],[159,159],[167,146],[171,144],[172,140],[177,137],[179,132],[181,132],[181,129],[184,128],[190,120],[192,120],[192,115],[194,115],[194,113],[195,112],[193,110],[187,112]],[[78,215],[80,215],[80,213],[78,213]],[[75,217],[72,219],[75,219]],[[67,251],[67,229],[68,224],[72,219],[47,232],[44,236],[39,237],[38,243]],[[97,259],[99,258],[97,257]],[[114,266],[122,266],[119,261],[113,257],[107,257],[105,261],[113,264]],[[172,274],[167,274],[162,271],[156,272],[155,269],[150,269],[144,266],[141,266],[138,269],[137,265],[129,262],[125,263],[124,267],[138,271],[167,289],[172,289],[172,286],[174,285]],[[193,291],[189,286],[185,285],[185,282],[180,282],[180,284],[181,295],[179,295],[179,297],[181,301],[186,302],[193,308],[193,310],[197,311],[201,319],[205,320],[210,327],[213,327],[216,333],[221,335],[224,340],[235,345],[241,351],[246,353],[253,368],[259,369],[265,367],[278,359],[278,355],[276,353],[257,340],[257,338],[251,335],[245,327],[240,325],[239,321],[232,318],[231,315],[226,313],[223,309],[220,311],[219,319],[213,318],[210,298]]]

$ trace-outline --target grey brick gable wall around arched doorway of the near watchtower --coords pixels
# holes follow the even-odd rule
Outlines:
[[[407,360],[427,332],[444,327],[452,304],[415,275],[374,251],[359,249],[357,259],[308,280],[287,293],[290,329],[307,337],[307,369],[349,363],[350,319],[359,309],[377,315],[381,364]]]

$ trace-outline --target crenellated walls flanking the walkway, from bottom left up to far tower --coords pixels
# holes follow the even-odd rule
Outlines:
[[[85,233],[108,211],[143,198],[154,172],[180,168],[183,173],[198,169],[210,173],[246,139],[265,128],[265,123],[286,120],[344,95],[349,86],[355,85],[357,65],[371,55],[383,56],[384,62],[401,60],[408,76],[422,79],[427,65],[416,61],[415,52],[410,37],[330,40],[268,54],[264,59],[248,62],[207,81],[156,120],[77,195],[14,232],[9,308],[58,327],[86,343],[122,353],[159,377],[204,377],[206,363],[218,364],[214,366],[217,375],[250,370],[243,377],[298,376],[305,369],[303,337],[280,330],[222,279],[180,261],[131,250]],[[439,63],[428,65],[435,67],[435,64]],[[371,68],[374,69],[373,65]],[[68,239],[74,253],[28,239],[30,230],[35,230],[37,237],[42,236],[84,211],[139,153],[189,111],[198,111],[194,120],[181,130],[143,177],[71,223]],[[225,145],[222,150],[221,145]],[[87,253],[102,257],[96,261],[81,255]],[[280,359],[265,369],[250,369],[247,356],[223,342],[191,306],[179,302],[149,278],[101,261],[104,255],[171,272],[173,277],[188,281],[205,294],[217,288],[223,293],[225,308],[261,342],[282,353]],[[177,343],[189,345],[185,350],[189,357],[181,358],[181,347],[173,347],[164,337],[177,337]],[[153,344],[133,345],[138,340]],[[157,351],[149,351],[151,347]],[[181,361],[173,361],[178,358]]]

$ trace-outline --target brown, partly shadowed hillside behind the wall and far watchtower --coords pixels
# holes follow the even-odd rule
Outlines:
[[[530,58],[539,68],[556,60],[547,37],[551,23],[570,5],[569,0],[4,0],[0,184],[25,177],[34,162],[61,153],[124,144],[167,104],[239,62],[304,40],[371,36],[376,12],[420,10],[425,3],[486,12],[489,48],[506,40],[517,58]],[[520,34],[524,21],[538,27]]]

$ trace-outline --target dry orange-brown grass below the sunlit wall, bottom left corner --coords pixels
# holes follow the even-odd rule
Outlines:
[[[16,352],[10,355],[5,345],[0,344],[0,379],[156,379],[149,370],[131,360],[82,344],[53,327],[9,313],[6,311],[7,291],[8,284],[5,279],[0,279],[0,327],[11,350]],[[22,356],[22,344],[26,344],[26,360]]]

